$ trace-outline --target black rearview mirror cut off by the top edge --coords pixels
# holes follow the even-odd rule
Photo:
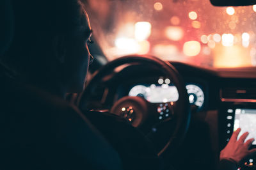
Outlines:
[[[256,4],[255,0],[210,0],[214,6],[247,6]]]

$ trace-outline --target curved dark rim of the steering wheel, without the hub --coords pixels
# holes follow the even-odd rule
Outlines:
[[[170,151],[172,151],[172,153],[175,153],[175,150],[177,150],[177,148],[179,148],[178,146],[182,143],[182,141],[184,141],[186,132],[188,131],[191,115],[188,93],[186,90],[185,83],[182,77],[180,76],[179,72],[169,62],[163,61],[154,56],[140,55],[124,56],[122,58],[115,59],[109,62],[107,65],[100,68],[100,70],[93,74],[92,79],[86,84],[83,93],[79,97],[78,107],[82,110],[86,109],[86,101],[88,101],[88,98],[90,97],[89,94],[90,91],[92,91],[91,89],[93,88],[93,84],[99,82],[102,79],[102,77],[108,75],[110,71],[113,71],[118,66],[131,63],[147,63],[156,66],[157,68],[159,68],[159,70],[161,70],[163,73],[165,73],[168,77],[172,79],[173,84],[175,84],[177,88],[177,91],[179,93],[179,100],[175,102],[177,104],[177,111],[179,111],[177,125],[175,127],[175,130],[173,131],[172,137],[170,137],[170,139],[165,144],[163,149],[159,151],[158,155],[170,155]]]

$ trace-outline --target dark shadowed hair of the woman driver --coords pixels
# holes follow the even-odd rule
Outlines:
[[[24,75],[58,71],[52,38],[76,30],[83,13],[80,1],[12,0],[12,7],[14,36],[2,63]]]

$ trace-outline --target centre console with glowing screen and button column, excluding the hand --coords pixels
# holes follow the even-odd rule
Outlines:
[[[241,128],[237,139],[244,133],[249,132],[246,140],[255,138],[256,140],[256,103],[254,102],[222,102],[221,111],[219,112],[219,134],[220,150],[222,150],[232,133]],[[246,141],[245,140],[245,141]],[[256,141],[251,148],[256,148]],[[246,167],[256,167],[256,156],[251,156],[243,160]]]

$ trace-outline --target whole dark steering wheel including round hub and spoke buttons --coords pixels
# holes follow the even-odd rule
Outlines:
[[[167,137],[168,140],[163,144],[163,147],[158,150],[158,155],[164,156],[166,154],[170,155],[170,153],[174,154],[188,131],[190,105],[185,83],[179,72],[177,72],[174,66],[170,63],[162,61],[154,56],[133,55],[115,59],[94,73],[92,79],[86,84],[86,88],[79,98],[78,106],[82,110],[86,109],[86,104],[90,100],[90,97],[92,97],[95,84],[99,84],[99,82],[109,75],[109,73],[113,72],[115,68],[127,64],[132,65],[138,63],[140,65],[156,66],[157,70],[163,72],[164,75],[175,84],[179,93],[179,99],[176,102],[152,104],[141,97],[123,97],[115,102],[111,108],[111,112],[127,119],[127,121],[131,122],[132,126],[140,128],[143,132],[148,129],[156,131],[156,128],[159,127],[159,125],[164,124],[165,129],[170,128],[170,131],[172,130],[172,135]],[[143,69],[143,67],[141,67],[141,69]],[[170,115],[164,118],[164,115],[167,115],[166,111],[168,111],[168,114]],[[175,121],[174,127],[173,120]]]

